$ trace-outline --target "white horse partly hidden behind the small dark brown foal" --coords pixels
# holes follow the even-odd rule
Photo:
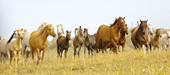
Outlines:
[[[63,30],[63,25],[59,24],[57,25],[57,34],[56,36],[53,38],[52,43],[55,47],[57,47],[57,39],[59,36],[66,36],[66,34],[64,34],[64,30]]]

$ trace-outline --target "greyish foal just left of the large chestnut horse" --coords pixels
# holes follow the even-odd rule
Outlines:
[[[88,29],[84,28],[83,31],[84,34],[84,54],[86,53],[86,48],[88,49],[88,54],[93,55],[93,48],[95,47],[96,41],[95,41],[95,36],[94,35],[89,35]]]

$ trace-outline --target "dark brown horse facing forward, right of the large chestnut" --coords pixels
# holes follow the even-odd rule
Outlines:
[[[139,27],[132,29],[131,41],[135,46],[135,49],[141,48],[145,45],[148,50],[148,32],[147,32],[147,21],[141,21]]]

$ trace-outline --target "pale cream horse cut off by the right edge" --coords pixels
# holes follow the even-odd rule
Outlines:
[[[170,45],[170,30],[166,30],[166,34],[162,34],[160,38],[160,44],[163,49],[168,49]]]

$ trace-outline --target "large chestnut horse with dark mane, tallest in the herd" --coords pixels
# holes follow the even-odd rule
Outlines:
[[[115,19],[115,22],[111,24],[111,26],[102,25],[99,27],[96,33],[96,52],[98,53],[98,48],[100,41],[102,40],[105,44],[103,49],[106,51],[110,44],[113,45],[115,53],[117,53],[117,44],[119,43],[120,39],[120,30],[126,30],[125,28],[125,17],[119,17]]]

